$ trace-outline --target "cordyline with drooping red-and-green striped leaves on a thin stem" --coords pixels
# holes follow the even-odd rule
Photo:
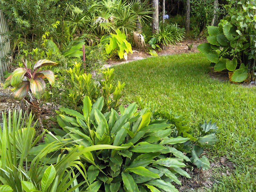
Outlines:
[[[33,69],[30,69],[27,67],[26,62],[23,59],[22,62],[24,67],[15,69],[12,74],[5,80],[3,88],[5,89],[9,86],[15,87],[16,90],[14,91],[13,96],[18,100],[26,99],[26,96],[30,91],[36,98],[36,102],[32,103],[28,99],[26,100],[37,109],[38,120],[41,127],[43,128],[40,118],[38,99],[45,91],[45,79],[47,79],[52,86],[55,82],[55,76],[54,73],[50,70],[38,71],[38,69],[43,66],[57,65],[57,63],[47,59],[41,59],[35,63]],[[23,80],[24,77],[27,77],[28,80]]]

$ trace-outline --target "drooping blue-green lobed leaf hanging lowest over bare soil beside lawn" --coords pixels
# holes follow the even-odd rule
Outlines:
[[[191,151],[191,155],[192,157],[190,158],[191,162],[194,163],[197,168],[202,167],[203,170],[208,170],[210,168],[210,163],[208,158],[204,155],[201,158],[199,158],[198,156],[202,154],[202,152],[204,151],[203,148],[194,145]]]

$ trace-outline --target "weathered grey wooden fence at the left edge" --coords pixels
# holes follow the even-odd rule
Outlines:
[[[10,57],[10,41],[6,35],[8,26],[2,11],[0,10],[0,83],[4,81],[4,73],[9,71],[11,63]]]

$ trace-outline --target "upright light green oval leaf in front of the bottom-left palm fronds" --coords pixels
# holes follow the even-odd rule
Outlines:
[[[53,165],[50,165],[44,172],[44,175],[41,180],[41,190],[45,192],[48,187],[51,185],[56,175],[56,170]]]

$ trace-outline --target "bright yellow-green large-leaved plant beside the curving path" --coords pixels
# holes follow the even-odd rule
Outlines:
[[[111,33],[111,37],[108,37],[107,40],[109,44],[106,44],[106,53],[109,55],[109,58],[114,58],[116,55],[120,59],[127,59],[127,54],[132,53],[132,46],[126,40],[126,35],[122,33],[119,29],[115,30],[116,34]]]

